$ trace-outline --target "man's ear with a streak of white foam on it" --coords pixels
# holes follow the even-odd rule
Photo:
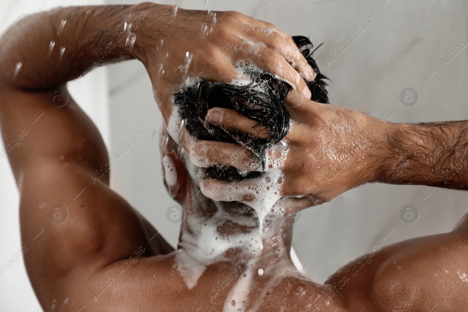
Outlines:
[[[176,152],[171,151],[162,157],[164,179],[168,185],[169,195],[183,202],[187,195],[187,170]]]

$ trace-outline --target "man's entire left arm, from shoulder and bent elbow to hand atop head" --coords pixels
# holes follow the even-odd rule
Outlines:
[[[215,58],[213,66],[209,62],[215,48],[222,48],[224,39],[234,37],[250,18],[236,12],[219,14],[218,21],[227,26],[215,27],[207,35],[200,29],[213,16],[182,9],[179,16],[176,20],[171,6],[151,3],[58,8],[29,16],[0,44],[0,126],[6,146],[0,156],[8,156],[20,190],[22,243],[28,248],[25,264],[44,307],[56,298],[70,297],[80,286],[92,289],[102,278],[98,273],[111,263],[135,253],[150,256],[172,250],[109,188],[110,159],[102,138],[64,86],[95,65],[129,58],[146,65],[156,98],[169,98],[171,86],[185,74],[197,76],[200,67],[205,79],[234,78],[231,62],[248,58],[241,50],[229,50]],[[267,63],[282,55],[265,47],[275,48],[272,38],[278,39],[278,47],[291,47],[285,44],[286,36],[260,27],[269,24],[251,22],[255,26],[241,32],[236,48],[255,39],[261,47],[256,57]],[[188,71],[178,67],[187,51],[194,55]],[[270,58],[259,57],[265,53]],[[165,74],[161,70],[158,78],[161,64]],[[301,59],[294,64],[306,70]],[[221,69],[231,76],[219,76]],[[160,108],[168,118],[170,105]],[[73,306],[80,304],[73,296],[68,305],[73,300]]]

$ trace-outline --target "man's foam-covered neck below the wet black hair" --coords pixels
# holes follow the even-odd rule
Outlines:
[[[232,267],[233,278],[247,268],[260,276],[277,264],[294,269],[290,255],[292,225],[287,218],[269,215],[259,232],[255,212],[241,204],[237,210],[207,201],[199,207],[186,209],[176,255],[176,266],[189,289],[218,262]]]

